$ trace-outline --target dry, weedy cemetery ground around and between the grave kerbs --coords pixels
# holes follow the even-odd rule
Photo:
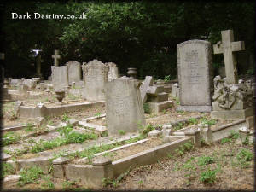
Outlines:
[[[70,97],[67,96],[66,102],[82,101],[79,96]],[[54,104],[53,96],[44,102],[49,102],[50,98]],[[25,102],[41,100],[35,98]],[[172,125],[174,131],[179,131],[201,123],[211,125],[212,130],[232,123],[211,119],[209,113],[176,111],[178,99],[170,97],[169,100],[174,101],[172,108],[160,113],[149,113],[144,104],[147,125],[141,126],[142,129],[134,134],[120,129],[118,136],[108,136],[105,131],[96,131],[80,123],[86,118],[96,117],[87,122],[106,126],[104,104],[46,117],[41,124],[36,120],[14,117],[11,112],[13,102],[3,104],[3,125],[24,125],[22,129],[2,133],[2,152],[11,155],[8,161],[3,162],[2,177],[20,175],[19,181],[7,189],[88,189],[79,179],[53,177],[55,170],[52,162],[64,157],[69,158],[69,163],[74,165],[91,165],[96,154],[99,154],[97,157],[114,161],[140,153],[166,143],[162,135],[148,137],[149,131],[161,130],[162,125]],[[253,189],[253,145],[241,143],[238,137],[239,134],[233,132],[219,143],[207,144],[202,140],[201,148],[195,148],[191,142],[185,143],[164,159],[159,158],[157,163],[127,169],[119,177],[102,180],[102,189]],[[44,168],[35,164],[15,170],[15,161],[42,157],[50,162]]]

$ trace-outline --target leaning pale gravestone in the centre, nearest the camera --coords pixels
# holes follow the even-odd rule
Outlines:
[[[109,135],[138,131],[145,125],[137,79],[118,78],[106,84],[106,118]]]

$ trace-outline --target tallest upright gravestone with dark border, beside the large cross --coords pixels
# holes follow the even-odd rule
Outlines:
[[[177,110],[211,111],[211,44],[203,40],[177,44],[177,67],[180,98]]]

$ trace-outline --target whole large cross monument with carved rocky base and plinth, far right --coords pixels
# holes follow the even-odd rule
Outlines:
[[[244,43],[233,42],[232,30],[222,31],[223,43],[213,45],[214,53],[224,53],[226,78],[214,78],[211,117],[214,119],[246,119],[253,115],[252,82],[240,79],[237,83],[236,57],[233,51],[244,50]]]

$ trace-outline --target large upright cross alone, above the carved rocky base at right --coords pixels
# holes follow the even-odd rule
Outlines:
[[[234,51],[245,50],[243,41],[234,42],[233,30],[226,30],[221,32],[222,44],[214,44],[214,54],[224,55],[224,64],[226,72],[227,84],[237,84],[237,69],[236,57]]]

